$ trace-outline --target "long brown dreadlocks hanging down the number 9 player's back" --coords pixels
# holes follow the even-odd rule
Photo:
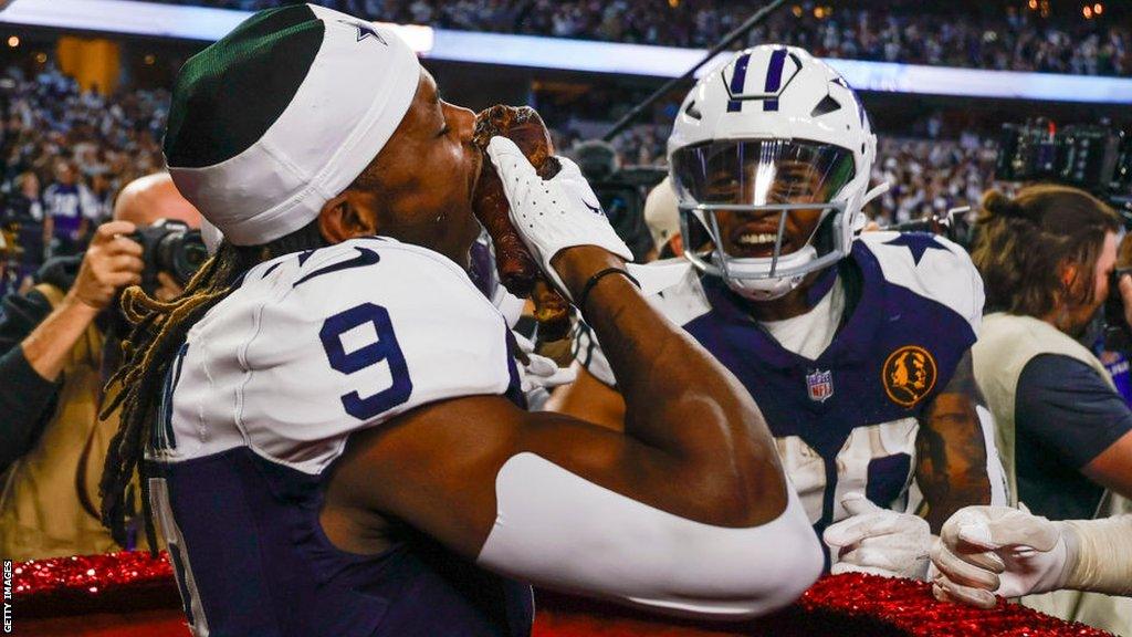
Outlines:
[[[189,329],[217,303],[224,300],[249,269],[277,256],[326,245],[317,219],[290,235],[259,246],[234,246],[224,240],[216,254],[189,280],[185,292],[175,299],[160,301],[138,286],[130,287],[122,294],[122,312],[134,326],[129,337],[122,341],[123,364],[106,382],[105,394],[112,398],[100,414],[101,418],[105,418],[121,407],[118,432],[110,441],[98,485],[102,524],[110,529],[114,542],[126,544],[127,517],[132,508],[127,490],[135,474],[138,474],[142,477],[146,540],[151,551],[157,550],[149,510],[148,481],[142,475],[142,461],[151,427],[157,419],[165,374]],[[112,393],[111,390],[115,387],[120,391]]]

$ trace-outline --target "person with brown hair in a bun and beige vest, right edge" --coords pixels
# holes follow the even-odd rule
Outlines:
[[[1114,278],[1120,230],[1120,218],[1100,199],[1055,185],[1022,188],[1015,198],[987,193],[976,226],[972,258],[994,313],[984,317],[972,348],[975,377],[998,425],[1014,503],[1050,520],[1108,517],[1124,507],[1121,496],[1132,495],[1132,410],[1089,349],[1097,340],[1090,326],[1110,294],[1122,297],[1125,307],[1116,321],[1126,321],[1132,307],[1132,280],[1122,277],[1117,283]],[[934,554],[943,571],[936,595],[985,601],[967,594],[966,587],[980,581],[978,574],[953,568],[962,561],[958,558],[949,560],[985,555],[985,546],[957,544],[960,516],[976,512],[957,513],[947,523],[950,535],[944,528]],[[987,528],[981,540],[990,545],[994,525]],[[996,559],[974,561],[997,563],[994,570],[1001,572],[1002,559]],[[1126,600],[1063,592],[1026,603],[1122,634],[1132,629]]]

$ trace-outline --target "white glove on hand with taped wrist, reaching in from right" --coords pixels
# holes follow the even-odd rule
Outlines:
[[[1009,507],[967,507],[943,525],[932,550],[941,601],[989,609],[1003,597],[1062,587],[1065,526]]]

